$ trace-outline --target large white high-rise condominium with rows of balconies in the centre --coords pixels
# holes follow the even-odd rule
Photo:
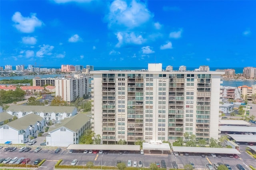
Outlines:
[[[91,71],[92,130],[103,144],[120,139],[173,142],[184,133],[218,139],[220,76],[216,71]]]

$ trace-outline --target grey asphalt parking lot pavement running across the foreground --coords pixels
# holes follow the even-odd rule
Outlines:
[[[248,155],[243,150],[246,146],[241,148],[240,158],[229,158],[228,155],[222,155],[222,158],[212,157],[208,154],[210,162],[222,162],[223,164],[230,164],[233,170],[237,170],[236,164],[241,164],[246,170],[250,170],[249,165],[256,166],[256,160]],[[117,151],[110,151],[108,154],[83,154],[83,151],[76,151],[74,153],[69,153],[69,150],[62,150],[59,153],[54,153],[54,150],[42,149],[38,153],[34,153],[34,149],[30,152],[18,152],[18,149],[14,152],[4,152],[3,149],[0,149],[0,158],[11,157],[27,157],[31,159],[28,164],[33,164],[37,159],[46,159],[47,161],[39,169],[52,169],[55,163],[62,159],[63,162],[61,165],[70,165],[72,160],[77,159],[77,165],[85,165],[87,162],[91,161],[96,166],[115,166],[116,160],[121,160],[122,162],[127,162],[128,160],[139,161],[142,160],[144,167],[149,167],[150,163],[155,163],[156,161],[161,162],[165,160],[167,168],[173,168],[172,162],[176,161],[178,168],[183,168],[184,165],[188,164],[189,161],[194,162],[197,170],[204,170],[205,164],[208,163],[206,158],[202,158],[201,154],[190,153],[189,156],[174,156],[172,153],[168,155],[162,154],[144,154],[140,155],[139,152],[129,152],[129,154],[118,154]],[[98,156],[97,156],[98,155]],[[206,167],[207,169],[207,167]]]

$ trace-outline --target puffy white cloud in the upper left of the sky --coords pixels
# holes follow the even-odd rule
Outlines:
[[[34,32],[36,27],[41,27],[43,22],[36,18],[36,14],[31,14],[31,17],[23,17],[20,12],[15,12],[12,16],[12,21],[17,30],[24,33]]]

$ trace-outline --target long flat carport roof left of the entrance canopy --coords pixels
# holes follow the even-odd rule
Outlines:
[[[70,144],[67,149],[73,149],[73,150],[140,150],[140,145]]]

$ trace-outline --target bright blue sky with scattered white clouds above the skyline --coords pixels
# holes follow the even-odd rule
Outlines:
[[[256,1],[0,1],[0,65],[256,67]]]

